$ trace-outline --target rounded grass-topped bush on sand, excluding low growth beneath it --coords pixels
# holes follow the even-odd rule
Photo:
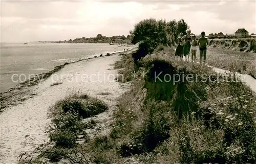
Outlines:
[[[84,129],[88,125],[82,122],[82,118],[88,118],[106,109],[108,107],[104,103],[87,95],[74,94],[58,101],[51,108],[53,118],[49,131],[50,141],[54,142],[57,148],[76,147],[78,135],[87,135]]]

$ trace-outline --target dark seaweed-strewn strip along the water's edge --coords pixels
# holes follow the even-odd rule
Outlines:
[[[120,55],[120,54],[123,54],[123,53],[131,53],[135,50],[137,50],[137,48],[133,48],[133,49],[128,50],[128,51],[119,51],[119,52],[114,52],[114,53],[107,53],[106,55],[97,56],[97,57],[95,57],[96,56],[95,55],[94,57],[79,59],[79,60],[72,61],[72,62],[66,62],[64,64],[55,66],[49,72],[37,74],[35,77],[30,78],[30,79],[26,80],[25,82],[18,83],[15,86],[9,88],[6,91],[0,92],[0,100],[1,100],[0,114],[1,114],[1,112],[4,111],[4,109],[6,109],[8,107],[15,106],[15,105],[18,105],[18,104],[22,104],[22,102],[24,102],[25,100],[27,100],[29,98],[33,98],[35,95],[37,95],[37,93],[35,91],[33,91],[33,89],[30,88],[30,87],[36,86],[38,83],[44,82],[51,75],[60,71],[63,67],[65,67],[68,64],[73,64],[73,63],[76,63],[76,62],[89,60],[89,59],[94,59],[94,58],[99,58],[99,57],[104,57],[104,56],[112,56],[112,55]]]

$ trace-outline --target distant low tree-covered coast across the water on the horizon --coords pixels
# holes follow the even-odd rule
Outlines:
[[[127,35],[126,37],[124,35],[122,36],[102,36],[102,34],[98,34],[96,37],[82,37],[82,38],[76,38],[74,40],[64,40],[64,41],[55,41],[55,43],[113,43],[113,44],[123,44],[123,43],[131,43],[131,35]]]

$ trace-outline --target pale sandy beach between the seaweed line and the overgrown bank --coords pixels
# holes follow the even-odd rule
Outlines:
[[[113,69],[113,64],[118,60],[120,56],[113,55],[66,65],[46,81],[33,86],[38,93],[36,96],[3,111],[0,114],[0,163],[15,163],[21,153],[33,152],[39,144],[48,142],[45,130],[50,123],[48,109],[73,91],[106,102],[110,110],[99,114],[96,119],[109,125],[116,99],[126,88],[125,84],[115,81],[117,70]],[[61,84],[51,86],[57,79],[62,79],[59,80]],[[108,95],[100,92],[108,92]]]

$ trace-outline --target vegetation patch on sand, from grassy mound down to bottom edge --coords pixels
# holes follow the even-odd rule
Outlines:
[[[84,148],[78,143],[78,139],[82,139],[83,143],[88,142],[85,130],[90,128],[91,124],[95,124],[95,121],[86,123],[83,119],[105,110],[108,110],[105,103],[86,94],[80,95],[79,92],[56,102],[49,110],[49,116],[52,118],[48,130],[50,145],[41,148],[37,158],[20,163],[41,163],[43,159],[57,162],[62,158],[72,163],[87,162]]]

